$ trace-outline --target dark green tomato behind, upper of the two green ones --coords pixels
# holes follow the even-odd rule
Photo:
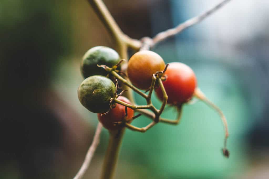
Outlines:
[[[106,76],[108,73],[97,65],[112,67],[120,61],[119,54],[106,46],[95,46],[89,49],[82,58],[80,70],[84,78],[93,75]]]

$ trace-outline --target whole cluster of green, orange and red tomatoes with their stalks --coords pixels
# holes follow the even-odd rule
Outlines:
[[[98,119],[105,128],[119,130],[122,127],[128,127],[134,131],[145,132],[158,122],[177,124],[183,104],[196,96],[220,113],[226,130],[223,153],[225,156],[229,155],[226,150],[228,137],[226,119],[222,112],[197,88],[196,76],[189,66],[179,62],[165,65],[160,55],[148,50],[139,51],[131,56],[128,60],[128,67],[124,71],[121,71],[122,61],[115,50],[105,46],[96,46],[85,53],[81,63],[85,80],[78,88],[79,100],[89,111],[98,113]],[[123,78],[119,74],[125,74],[125,71],[127,75]],[[126,80],[127,78],[132,84]],[[124,91],[118,94],[118,80],[144,97],[147,105],[132,104],[127,98],[121,96]],[[145,91],[141,92],[141,90]],[[156,109],[151,102],[153,91],[162,101],[160,109]],[[160,117],[166,104],[178,109],[178,119],[169,120]],[[134,116],[134,110],[140,114]],[[132,126],[130,124],[132,120],[141,114],[150,117],[153,120],[152,123],[143,128]]]

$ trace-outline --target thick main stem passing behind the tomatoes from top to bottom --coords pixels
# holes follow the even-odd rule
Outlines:
[[[94,9],[95,13],[107,28],[108,32],[111,34],[112,38],[114,38],[116,43],[116,51],[119,53],[122,59],[128,59],[128,46],[138,50],[140,48],[140,42],[133,40],[122,33],[118,24],[115,22],[107,7],[101,0],[88,1]],[[132,90],[130,90],[130,88],[126,85],[123,85],[122,87],[123,90],[128,90],[125,95],[132,103],[134,103]],[[118,131],[110,131],[110,139],[107,152],[105,154],[101,179],[113,178],[124,131],[125,128],[122,128]]]

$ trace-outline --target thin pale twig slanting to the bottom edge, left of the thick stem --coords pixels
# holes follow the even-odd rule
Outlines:
[[[83,162],[82,166],[80,167],[79,171],[77,172],[76,176],[73,179],[81,179],[84,176],[84,174],[86,173],[86,171],[91,163],[91,159],[93,158],[95,149],[97,148],[97,146],[100,142],[101,131],[102,131],[102,124],[99,122],[98,126],[96,128],[94,137],[93,137],[93,142],[91,143],[91,146],[86,154],[84,162]]]

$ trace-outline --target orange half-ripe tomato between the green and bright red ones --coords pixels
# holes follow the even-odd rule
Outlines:
[[[165,68],[164,60],[153,51],[143,50],[135,53],[128,62],[128,77],[132,84],[147,90],[151,85],[152,75]]]

